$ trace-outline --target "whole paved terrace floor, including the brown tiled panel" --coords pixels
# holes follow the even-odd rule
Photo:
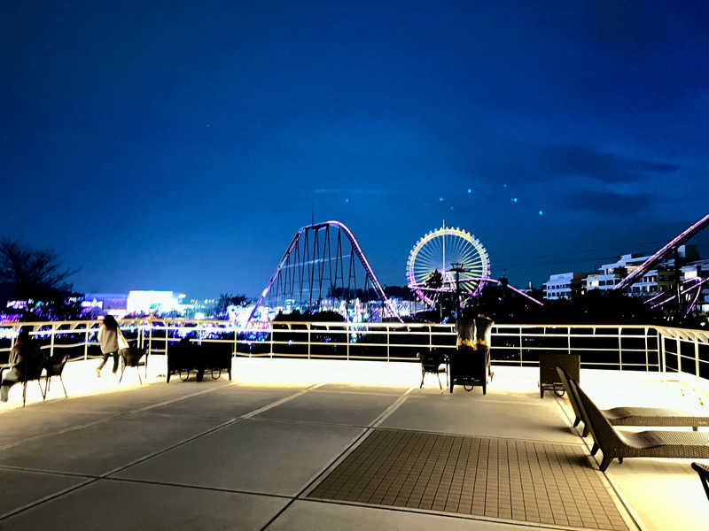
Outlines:
[[[600,473],[565,398],[536,369],[495,367],[453,395],[414,364],[237,358],[234,381],[121,386],[66,367],[27,408],[0,404],[1,529],[699,529],[689,460]],[[658,373],[582,370],[603,407],[694,405]],[[706,403],[706,402],[705,402]]]

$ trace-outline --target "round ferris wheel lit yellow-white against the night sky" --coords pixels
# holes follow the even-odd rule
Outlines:
[[[406,263],[409,289],[433,305],[440,292],[456,291],[456,272],[464,296],[475,296],[490,276],[490,258],[471,233],[454,227],[437,228],[421,237]]]

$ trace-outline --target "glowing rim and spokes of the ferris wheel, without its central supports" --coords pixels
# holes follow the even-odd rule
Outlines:
[[[437,238],[440,238],[442,242],[442,261],[440,262],[440,268],[438,266],[432,266],[432,247],[435,246]],[[451,271],[447,267],[445,255],[445,242],[447,238],[452,239],[454,256],[456,257],[456,259],[451,260],[451,262],[460,262],[464,268],[464,273],[471,275],[460,278],[461,285],[465,292],[477,295],[483,284],[480,280],[490,276],[490,258],[487,255],[487,250],[483,247],[478,238],[458,227],[445,227],[444,225],[436,230],[432,230],[418,239],[409,253],[409,259],[407,260],[409,288],[416,291],[419,298],[426,304],[432,305],[434,303],[432,297],[425,295],[425,291],[431,290],[424,288],[425,281],[433,271],[441,269],[441,273],[444,274],[443,285],[451,284],[451,280],[445,278],[445,274]],[[423,258],[419,258],[420,255],[422,255],[422,251],[427,261]],[[455,288],[451,286],[449,290],[453,291]],[[448,290],[442,289],[441,291]]]

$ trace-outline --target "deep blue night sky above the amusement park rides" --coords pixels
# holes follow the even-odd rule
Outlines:
[[[76,289],[255,295],[311,205],[386,284],[444,218],[524,285],[709,211],[705,2],[97,4],[0,7],[0,234]]]

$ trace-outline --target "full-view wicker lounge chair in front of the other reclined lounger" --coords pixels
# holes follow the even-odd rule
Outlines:
[[[569,380],[579,398],[584,423],[590,427],[594,446],[604,452],[599,468],[605,471],[614,458],[709,458],[709,434],[685,431],[643,431],[624,433],[612,427],[603,412],[588,398],[576,381]],[[592,454],[594,452],[592,451]]]

